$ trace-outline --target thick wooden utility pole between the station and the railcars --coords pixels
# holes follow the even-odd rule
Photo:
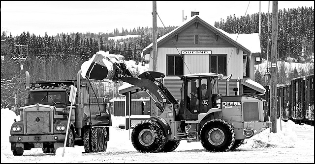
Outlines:
[[[270,119],[271,130],[277,133],[277,47],[278,47],[278,1],[272,1],[272,26],[271,26],[271,83],[270,83]],[[281,118],[280,118],[281,119]]]

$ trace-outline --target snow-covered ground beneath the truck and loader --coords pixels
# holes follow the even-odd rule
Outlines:
[[[173,152],[140,153],[129,139],[131,131],[117,128],[124,117],[113,117],[106,152],[85,153],[83,146],[66,147],[62,157],[62,148],[50,154],[33,148],[23,156],[13,156],[9,131],[14,118],[20,120],[9,109],[1,109],[1,163],[314,163],[314,126],[292,121],[280,124],[279,119],[276,134],[267,129],[233,151],[211,153],[200,142],[181,141]]]

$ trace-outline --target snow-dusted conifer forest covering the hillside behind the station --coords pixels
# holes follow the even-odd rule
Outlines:
[[[269,18],[269,19],[268,19]],[[271,13],[261,13],[261,52],[267,58],[267,39],[271,38]],[[215,27],[228,33],[258,33],[259,13],[244,17],[227,16]],[[177,26],[158,27],[158,37]],[[268,30],[269,28],[269,30]],[[269,31],[269,32],[268,32]],[[113,40],[113,36],[138,35]],[[140,63],[143,48],[151,44],[152,28],[116,28],[113,33],[62,33],[56,36],[35,36],[23,31],[12,36],[1,31],[1,108],[14,106],[14,94],[25,90],[25,71],[33,81],[75,79],[83,62],[97,51],[121,54],[125,60]],[[271,42],[269,42],[271,47]],[[278,59],[295,62],[314,60],[314,9],[298,7],[278,12]],[[271,48],[269,48],[269,54]],[[143,64],[143,63],[141,63]],[[56,67],[58,66],[58,67]],[[23,68],[23,70],[22,70]]]

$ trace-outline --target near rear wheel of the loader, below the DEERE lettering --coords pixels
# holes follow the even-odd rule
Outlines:
[[[202,146],[210,152],[224,152],[233,146],[235,132],[227,121],[213,119],[202,126],[200,141]]]

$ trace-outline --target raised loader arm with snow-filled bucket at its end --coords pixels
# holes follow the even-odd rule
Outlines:
[[[164,86],[164,73],[146,71],[138,77],[133,77],[123,61],[111,61],[108,57],[98,53],[94,56],[85,77],[95,80],[123,81],[135,85],[146,92],[148,90],[157,97],[158,100],[154,101],[161,110],[159,103],[177,103],[174,96]],[[157,80],[158,78],[160,79]]]

